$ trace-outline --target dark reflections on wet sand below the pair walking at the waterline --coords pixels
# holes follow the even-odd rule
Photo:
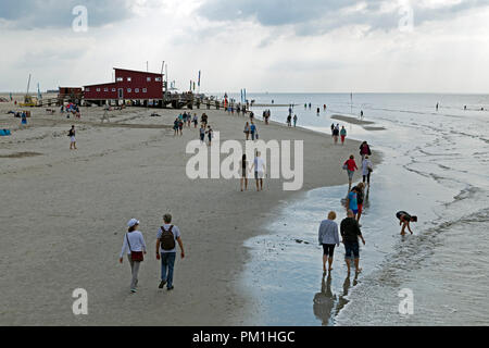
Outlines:
[[[358,284],[359,275],[353,278],[353,287]],[[323,276],[321,293],[314,295],[314,315],[323,322],[323,326],[333,326],[335,324],[335,316],[348,303],[348,294],[351,288],[350,275],[347,276],[343,283],[343,291],[340,295],[333,294],[331,290],[333,276],[331,273]]]

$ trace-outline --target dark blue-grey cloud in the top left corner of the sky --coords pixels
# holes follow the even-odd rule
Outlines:
[[[0,23],[15,29],[71,27],[73,9],[88,10],[88,25],[102,26],[130,17],[128,0],[1,0]]]

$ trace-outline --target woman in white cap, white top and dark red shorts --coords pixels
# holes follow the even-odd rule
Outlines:
[[[124,236],[123,248],[118,261],[123,263],[124,252],[127,250],[127,258],[129,259],[130,271],[133,273],[133,281],[130,282],[130,293],[136,293],[138,286],[139,265],[145,260],[146,243],[142,233],[138,231],[139,221],[131,219],[127,223],[129,227],[127,234]]]

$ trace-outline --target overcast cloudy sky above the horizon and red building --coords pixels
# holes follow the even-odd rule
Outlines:
[[[0,47],[1,91],[165,61],[203,92],[487,94],[489,0],[1,0]]]

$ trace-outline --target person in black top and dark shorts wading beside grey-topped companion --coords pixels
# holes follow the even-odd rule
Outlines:
[[[344,245],[346,256],[348,266],[348,275],[350,276],[351,259],[354,259],[355,273],[362,272],[360,268],[360,244],[359,238],[362,239],[363,245],[365,245],[365,239],[362,236],[362,231],[360,229],[359,223],[354,219],[354,213],[349,210],[348,217],[341,222],[340,233],[342,243]]]

